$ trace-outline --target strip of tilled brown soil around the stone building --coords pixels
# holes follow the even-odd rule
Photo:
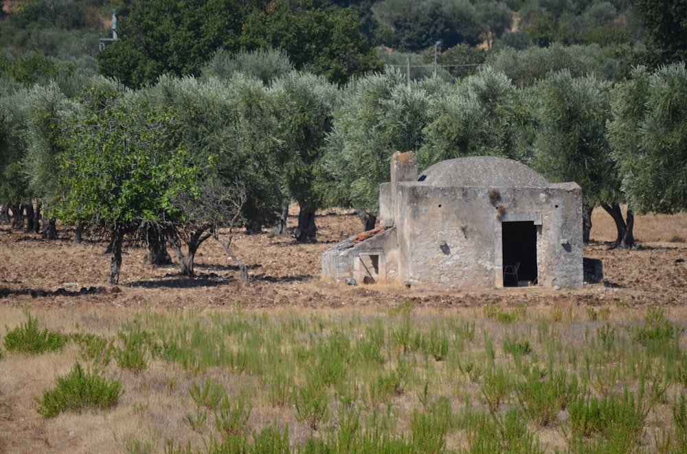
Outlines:
[[[291,213],[296,214],[295,208]],[[238,267],[214,240],[203,243],[196,256],[196,277],[179,276],[176,265],[152,267],[146,250],[126,245],[120,285],[106,284],[109,255],[106,243],[75,245],[69,229],[58,241],[40,235],[0,230],[0,304],[16,307],[215,307],[240,304],[246,309],[271,307],[332,307],[387,309],[412,299],[417,306],[470,307],[501,302],[528,305],[616,304],[642,307],[681,306],[687,302],[687,215],[636,218],[633,250],[613,250],[611,218],[593,216],[592,243],[585,256],[603,261],[603,283],[567,291],[539,287],[473,291],[418,291],[402,285],[351,287],[321,278],[322,252],[362,230],[352,212],[324,211],[317,216],[315,244],[299,244],[291,237],[238,232],[232,250],[249,267],[251,285],[239,281]],[[289,226],[295,226],[292,215]]]

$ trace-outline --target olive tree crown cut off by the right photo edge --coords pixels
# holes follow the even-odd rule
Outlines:
[[[644,67],[613,91],[609,142],[622,191],[639,213],[687,208],[684,63],[649,73]]]

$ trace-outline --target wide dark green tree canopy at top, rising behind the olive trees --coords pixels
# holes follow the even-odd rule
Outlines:
[[[222,49],[282,49],[297,69],[337,83],[381,69],[357,14],[315,1],[141,1],[120,23],[120,40],[98,53],[98,64],[132,87],[161,74],[199,75]]]

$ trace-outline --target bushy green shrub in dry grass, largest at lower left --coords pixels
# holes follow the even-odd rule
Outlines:
[[[117,405],[122,394],[119,381],[85,372],[77,362],[67,375],[58,377],[54,389],[44,391],[43,398],[36,398],[36,411],[45,418],[54,418],[65,411],[109,409]]]

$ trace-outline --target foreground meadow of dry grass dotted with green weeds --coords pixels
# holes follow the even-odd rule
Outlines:
[[[0,452],[686,452],[680,310],[3,307]]]

